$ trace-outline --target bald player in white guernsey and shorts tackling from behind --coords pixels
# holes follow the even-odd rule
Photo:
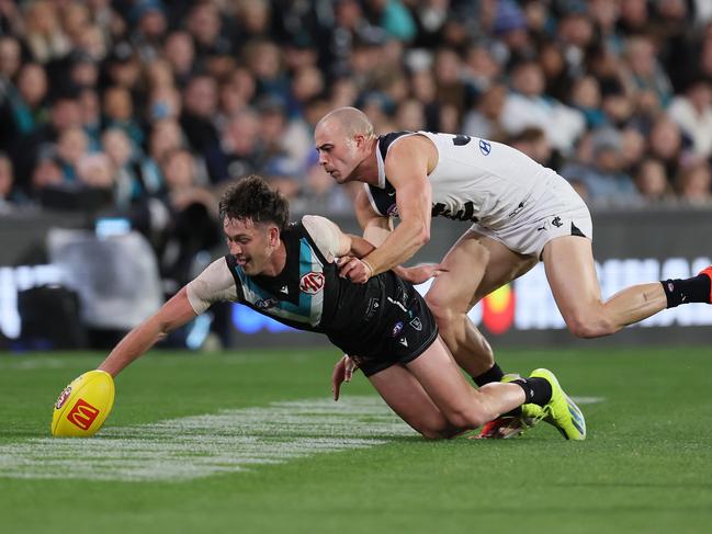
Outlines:
[[[389,269],[410,280],[399,265],[428,241],[432,216],[473,221],[430,268],[437,277],[426,302],[455,360],[478,385],[501,379],[502,372],[467,311],[539,261],[566,326],[579,338],[611,334],[679,304],[710,303],[712,266],[688,280],[631,286],[603,302],[586,204],[564,178],[509,146],[429,132],[378,137],[354,107],[328,113],[314,136],[319,163],[334,180],[364,183],[355,214],[377,248],[343,268],[352,280]],[[393,216],[400,219],[395,229]]]

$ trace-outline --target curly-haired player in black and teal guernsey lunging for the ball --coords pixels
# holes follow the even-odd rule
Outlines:
[[[324,217],[287,225],[287,202],[259,177],[230,185],[221,214],[229,254],[126,334],[100,370],[116,376],[213,303],[237,302],[355,351],[378,394],[426,438],[455,436],[523,404],[541,406],[564,438],[586,438],[584,416],[550,371],[475,389],[412,285],[389,271],[366,284],[339,276],[337,258],[373,250],[365,239],[342,234]],[[338,399],[338,385],[334,393]]]

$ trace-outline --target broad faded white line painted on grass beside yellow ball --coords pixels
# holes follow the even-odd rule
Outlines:
[[[155,424],[109,425],[92,439],[0,445],[0,477],[189,480],[404,435],[415,432],[376,397],[274,402]]]

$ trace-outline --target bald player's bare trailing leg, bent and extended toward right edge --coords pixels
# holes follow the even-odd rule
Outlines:
[[[543,259],[556,305],[569,331],[579,338],[609,336],[667,306],[659,282],[626,287],[603,303],[591,242],[586,238],[553,239],[544,247]]]

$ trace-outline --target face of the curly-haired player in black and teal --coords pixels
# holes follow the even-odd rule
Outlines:
[[[270,264],[274,252],[275,234],[273,225],[253,223],[250,219],[230,219],[225,217],[223,231],[230,254],[235,257],[245,274],[255,276],[262,273]],[[279,240],[279,238],[276,238]]]

